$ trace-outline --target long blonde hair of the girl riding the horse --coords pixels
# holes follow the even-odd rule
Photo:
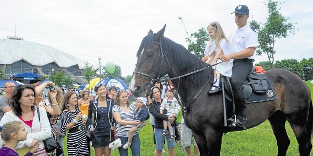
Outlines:
[[[209,29],[212,29],[216,32],[216,38],[215,38],[215,48],[217,50],[220,49],[220,41],[221,39],[225,39],[228,44],[230,44],[229,40],[226,38],[225,33],[221,27],[221,24],[217,21],[211,22],[207,27],[206,31],[209,32]],[[210,47],[210,44],[212,43],[213,39],[210,39],[207,46]],[[211,51],[211,49],[210,49]]]

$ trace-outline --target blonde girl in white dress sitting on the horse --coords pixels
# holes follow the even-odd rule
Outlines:
[[[230,42],[225,37],[224,31],[219,22],[214,21],[211,22],[206,28],[210,41],[207,47],[204,50],[205,57],[202,58],[208,64],[215,64],[221,62],[221,60],[217,60],[218,58],[222,57],[223,55],[229,54],[230,51]],[[222,62],[213,66],[214,70],[214,84],[209,91],[209,94],[216,93],[221,90],[220,87],[220,76],[221,74],[227,77],[231,77],[232,74],[232,67],[233,67],[233,59],[230,59],[227,62]]]

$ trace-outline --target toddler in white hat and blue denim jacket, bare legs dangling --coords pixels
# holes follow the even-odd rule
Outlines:
[[[134,120],[140,120],[140,122],[143,122],[149,118],[149,112],[148,108],[146,106],[147,98],[137,98],[136,101],[136,110],[134,111]],[[123,149],[128,149],[132,145],[133,140],[133,133],[135,131],[140,130],[142,127],[140,125],[133,126],[128,131],[128,142],[126,142],[125,145],[123,145]]]

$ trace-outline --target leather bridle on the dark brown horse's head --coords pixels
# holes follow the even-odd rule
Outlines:
[[[154,81],[154,80],[161,79],[161,78],[160,78],[160,75],[161,75],[161,68],[160,68],[160,70],[159,70],[158,75],[157,75],[156,78],[152,78],[152,76],[151,76],[151,73],[152,73],[153,69],[155,68],[155,66],[156,66],[156,64],[157,64],[157,61],[158,61],[158,59],[159,59],[160,57],[161,57],[161,65],[160,65],[160,66],[162,66],[162,64],[163,64],[163,62],[164,62],[164,59],[165,59],[167,65],[168,65],[168,70],[170,71],[170,64],[169,64],[169,61],[168,61],[168,59],[167,59],[167,56],[165,55],[165,53],[164,53],[164,51],[163,51],[163,48],[162,48],[162,41],[160,41],[159,43],[156,42],[156,41],[154,41],[153,43],[159,45],[159,46],[160,46],[160,49],[159,49],[158,54],[157,54],[156,62],[155,62],[155,64],[153,65],[152,69],[150,70],[150,73],[149,73],[149,74],[145,74],[145,73],[136,72],[136,71],[133,72],[133,74],[139,74],[139,75],[142,75],[142,76],[145,76],[145,77],[150,78],[151,83],[149,83],[149,84],[151,84],[152,86],[153,86],[153,81]],[[169,71],[168,71],[168,72],[169,72]],[[163,78],[163,77],[162,77],[162,78]]]

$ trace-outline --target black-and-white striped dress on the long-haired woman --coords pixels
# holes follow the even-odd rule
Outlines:
[[[63,111],[62,112],[62,124],[61,131],[65,134],[65,128],[67,124],[73,121],[77,116],[78,110],[75,112]],[[78,123],[74,127],[82,127],[82,119],[78,120]],[[68,156],[78,156],[78,155],[87,155],[88,146],[86,141],[86,133],[84,129],[74,132],[67,133],[67,153]]]

